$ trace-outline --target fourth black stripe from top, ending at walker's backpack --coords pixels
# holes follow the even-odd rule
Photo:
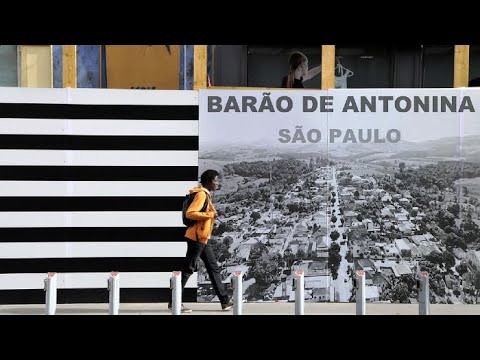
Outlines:
[[[0,197],[0,211],[180,211],[184,196]]]

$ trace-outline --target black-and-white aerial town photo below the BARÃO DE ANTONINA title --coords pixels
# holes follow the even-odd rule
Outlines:
[[[292,302],[294,271],[303,270],[305,302],[353,302],[363,270],[367,302],[418,303],[427,271],[432,304],[480,303],[474,115],[377,113],[359,125],[341,111],[251,122],[202,114],[199,171],[220,172],[210,244],[225,282],[240,270],[245,301]],[[307,133],[318,123],[328,137],[317,142]],[[389,142],[389,129],[401,140]],[[198,301],[215,300],[201,264]]]

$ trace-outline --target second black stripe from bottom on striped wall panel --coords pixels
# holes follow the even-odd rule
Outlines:
[[[183,257],[0,259],[0,274],[48,272],[168,272],[182,268]]]

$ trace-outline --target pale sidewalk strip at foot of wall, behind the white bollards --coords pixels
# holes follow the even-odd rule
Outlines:
[[[219,303],[186,303],[185,315],[233,315]],[[166,303],[120,304],[120,315],[170,315]],[[294,303],[245,303],[243,315],[294,315]],[[44,305],[0,305],[0,315],[44,315]],[[108,304],[57,305],[57,315],[108,315]],[[417,304],[368,304],[369,315],[418,315]],[[430,305],[431,315],[480,315],[480,305]],[[355,315],[355,303],[305,303],[305,315]]]

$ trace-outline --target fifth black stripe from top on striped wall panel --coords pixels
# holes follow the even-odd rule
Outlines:
[[[0,228],[1,242],[185,241],[185,227]]]

